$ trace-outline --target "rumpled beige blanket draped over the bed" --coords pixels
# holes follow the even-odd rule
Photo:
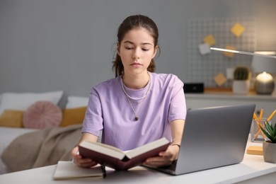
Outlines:
[[[51,127],[23,134],[6,147],[1,159],[10,172],[56,164],[71,159],[81,138],[81,125]]]

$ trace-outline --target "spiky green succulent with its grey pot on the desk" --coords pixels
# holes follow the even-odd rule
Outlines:
[[[263,159],[266,162],[276,163],[276,122],[274,125],[266,120],[264,127],[260,124],[260,129],[268,137],[268,140],[263,142]]]

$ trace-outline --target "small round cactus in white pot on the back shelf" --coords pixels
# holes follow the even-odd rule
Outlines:
[[[232,90],[235,94],[247,94],[250,88],[250,72],[247,67],[234,69],[234,81]]]

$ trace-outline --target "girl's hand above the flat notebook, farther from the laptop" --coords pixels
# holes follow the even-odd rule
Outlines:
[[[76,146],[71,151],[71,156],[74,160],[74,163],[76,163],[77,166],[82,168],[90,168],[92,166],[96,166],[98,163],[96,161],[93,161],[92,159],[84,158],[81,155],[79,155],[79,147]]]

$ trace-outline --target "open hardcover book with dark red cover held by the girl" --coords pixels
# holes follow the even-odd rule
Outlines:
[[[160,151],[166,151],[169,144],[168,139],[163,137],[130,151],[122,151],[107,144],[84,141],[79,144],[79,154],[110,168],[127,170],[141,165],[149,157],[157,156]]]

